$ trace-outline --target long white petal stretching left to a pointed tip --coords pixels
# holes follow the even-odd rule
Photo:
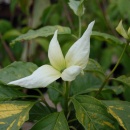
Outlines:
[[[32,75],[12,81],[8,84],[18,85],[25,88],[46,87],[53,81],[60,78],[61,73],[50,65],[43,65],[35,70]]]

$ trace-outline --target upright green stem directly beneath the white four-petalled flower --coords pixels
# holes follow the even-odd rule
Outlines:
[[[64,82],[64,112],[65,116],[68,115],[68,100],[69,100],[69,84]]]

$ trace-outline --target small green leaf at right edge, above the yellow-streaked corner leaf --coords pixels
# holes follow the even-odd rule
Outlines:
[[[126,77],[125,75],[122,75],[118,78],[113,78],[113,80],[118,81],[118,82],[130,87],[130,77]]]

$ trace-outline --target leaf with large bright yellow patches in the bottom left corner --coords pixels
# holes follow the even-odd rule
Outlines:
[[[28,113],[33,104],[27,101],[0,102],[0,129],[19,130],[28,120]]]

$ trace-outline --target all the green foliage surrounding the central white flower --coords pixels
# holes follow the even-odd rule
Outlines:
[[[129,5],[129,0],[11,0],[5,10],[10,16],[0,13],[0,129],[23,129],[27,121],[30,130],[129,130]],[[59,78],[46,88],[8,84],[49,63],[56,30],[66,55],[93,20],[89,60],[75,80]]]

